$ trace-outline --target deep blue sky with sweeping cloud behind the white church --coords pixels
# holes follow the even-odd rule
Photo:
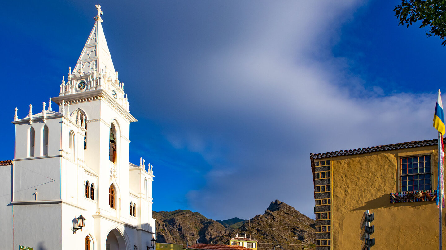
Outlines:
[[[13,158],[14,108],[58,95],[95,4],[155,211],[252,218],[279,199],[314,218],[310,153],[436,137],[445,48],[398,26],[399,1],[9,1],[0,160]]]

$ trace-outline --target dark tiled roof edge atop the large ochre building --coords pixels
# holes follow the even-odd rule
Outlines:
[[[443,142],[446,143],[446,138],[443,138]],[[396,149],[410,149],[410,148],[419,148],[419,147],[435,146],[435,145],[438,145],[437,139],[424,140],[424,141],[408,141],[408,142],[374,146],[374,147],[362,148],[362,149],[350,149],[350,150],[341,150],[341,151],[334,151],[334,152],[332,151],[332,152],[327,152],[327,153],[310,153],[310,158],[322,159],[322,158],[330,158],[330,157],[337,157],[337,156],[344,156],[344,155],[373,153],[373,152],[396,150]]]

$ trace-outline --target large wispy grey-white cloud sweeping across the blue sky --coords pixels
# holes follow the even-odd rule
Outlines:
[[[195,210],[248,218],[279,199],[314,217],[310,153],[434,137],[432,94],[367,89],[348,71],[348,58],[331,54],[359,4],[262,2],[235,16],[236,27],[207,20],[221,30],[205,27],[190,38],[224,39],[215,46],[183,44],[169,85],[157,86],[165,95],[153,99],[157,114],[169,117],[169,141],[211,166],[202,169],[204,186],[187,195]],[[234,210],[240,198],[246,202]]]

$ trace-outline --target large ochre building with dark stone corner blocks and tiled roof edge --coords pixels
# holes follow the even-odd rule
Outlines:
[[[375,213],[373,250],[438,249],[437,140],[310,154],[310,159],[316,250],[360,249],[365,210]],[[446,249],[444,213],[442,222]]]

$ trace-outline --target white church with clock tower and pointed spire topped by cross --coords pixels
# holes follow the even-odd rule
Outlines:
[[[2,250],[155,250],[153,169],[129,162],[136,119],[96,7],[59,95],[24,118],[16,109],[14,160],[0,161]]]

